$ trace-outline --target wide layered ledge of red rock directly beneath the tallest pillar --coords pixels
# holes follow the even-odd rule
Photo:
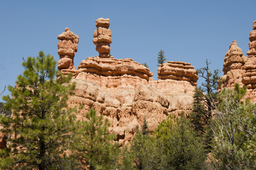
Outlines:
[[[118,60],[114,58],[102,58],[102,57],[88,57],[86,60],[83,60],[77,69],[79,79],[87,79],[87,77],[95,77],[95,81],[104,81],[104,79],[115,79],[119,81],[120,77],[129,76],[139,77],[140,81],[149,81],[152,77],[152,72],[143,64],[133,61],[132,59],[123,59]],[[96,80],[97,78],[99,80]],[[120,84],[116,81],[116,84]],[[103,83],[104,84],[104,83]],[[106,84],[109,84],[107,82]],[[109,85],[108,85],[109,86]]]

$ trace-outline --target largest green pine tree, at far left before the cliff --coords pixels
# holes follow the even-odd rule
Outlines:
[[[1,132],[10,134],[10,143],[0,151],[1,169],[68,169],[65,152],[74,131],[72,109],[67,96],[74,90],[71,77],[55,80],[54,57],[39,52],[22,63],[23,74],[16,86],[8,86],[11,96],[3,96],[11,117],[0,115]]]

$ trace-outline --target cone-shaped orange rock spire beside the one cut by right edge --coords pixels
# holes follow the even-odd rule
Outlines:
[[[235,84],[243,86],[242,78],[245,73],[244,65],[247,57],[243,56],[243,52],[234,40],[224,57],[223,77],[221,77],[221,89],[233,89]]]

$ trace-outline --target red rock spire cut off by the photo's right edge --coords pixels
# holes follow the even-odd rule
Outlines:
[[[243,84],[247,86],[247,97],[252,102],[256,101],[256,21],[252,26],[252,31],[249,37],[248,58],[245,62],[245,74],[243,74]]]

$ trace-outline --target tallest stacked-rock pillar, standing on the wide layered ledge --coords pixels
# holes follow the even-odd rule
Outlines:
[[[109,27],[109,19],[99,18],[96,20],[97,29],[94,31],[94,44],[96,45],[96,51],[99,52],[99,57],[110,57],[110,44],[111,30]]]

